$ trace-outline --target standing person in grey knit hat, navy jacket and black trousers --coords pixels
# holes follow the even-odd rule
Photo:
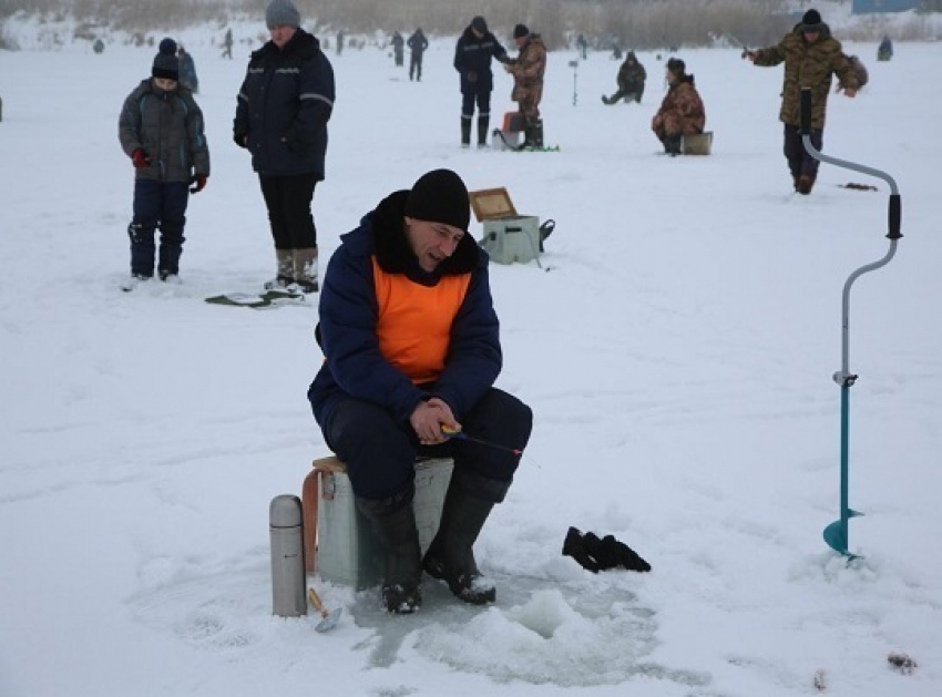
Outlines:
[[[265,21],[272,40],[249,59],[233,139],[252,152],[268,208],[277,269],[266,287],[314,293],[317,228],[310,205],[324,180],[334,69],[318,40],[300,28],[290,0],[273,0]]]

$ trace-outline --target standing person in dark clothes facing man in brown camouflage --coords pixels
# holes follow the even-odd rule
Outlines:
[[[474,102],[478,103],[478,147],[488,145],[488,127],[491,119],[491,91],[494,75],[491,59],[510,63],[506,50],[488,31],[483,17],[475,17],[458,39],[454,48],[454,70],[461,75],[461,146],[471,144],[471,121]]]

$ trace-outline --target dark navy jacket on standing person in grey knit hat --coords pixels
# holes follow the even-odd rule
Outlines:
[[[320,42],[298,29],[281,50],[269,41],[252,54],[233,137],[245,146],[248,136],[252,166],[259,174],[322,180],[334,96],[330,61]]]

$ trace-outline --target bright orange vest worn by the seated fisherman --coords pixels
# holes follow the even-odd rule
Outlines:
[[[372,277],[380,352],[413,385],[433,382],[444,370],[451,325],[464,303],[471,274],[442,276],[434,286],[422,286],[405,274],[387,274],[373,256]]]

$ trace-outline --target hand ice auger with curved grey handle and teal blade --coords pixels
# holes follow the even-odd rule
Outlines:
[[[873,262],[872,264],[861,266],[848,276],[843,284],[843,293],[841,297],[841,369],[833,376],[835,382],[837,382],[841,388],[840,520],[835,521],[825,527],[823,536],[825,542],[827,542],[828,546],[832,550],[843,554],[844,556],[853,558],[856,555],[851,554],[848,549],[850,539],[848,533],[848,521],[856,515],[862,514],[851,509],[849,502],[850,388],[853,387],[853,383],[857,381],[857,376],[850,371],[850,289],[851,286],[853,286],[853,281],[856,281],[860,276],[885,266],[890,263],[890,259],[893,258],[893,255],[895,255],[897,244],[899,243],[900,237],[903,236],[900,232],[900,224],[902,222],[902,202],[900,199],[899,189],[897,188],[897,182],[885,172],[853,162],[848,162],[847,160],[830,157],[815,147],[811,143],[811,90],[809,88],[802,88],[801,90],[801,141],[805,144],[805,150],[807,150],[808,154],[815,160],[832,164],[838,167],[844,167],[846,170],[853,170],[854,172],[876,176],[890,185],[890,202],[888,212],[889,232],[887,233],[887,238],[890,240],[890,248],[887,250],[883,258]]]

